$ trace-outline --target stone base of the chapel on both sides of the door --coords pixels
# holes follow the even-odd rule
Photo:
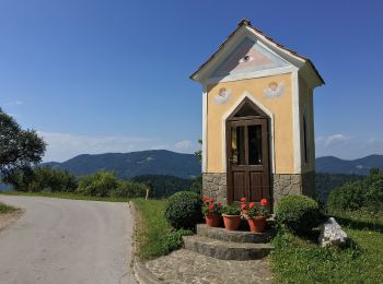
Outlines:
[[[281,197],[289,194],[305,194],[315,198],[315,171],[306,174],[274,174],[271,175],[271,192],[274,204]],[[227,203],[227,174],[204,173],[202,194]]]

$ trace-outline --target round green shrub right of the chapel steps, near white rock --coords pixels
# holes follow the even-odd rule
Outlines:
[[[306,196],[287,196],[278,200],[276,220],[292,233],[305,235],[318,225],[320,208]]]

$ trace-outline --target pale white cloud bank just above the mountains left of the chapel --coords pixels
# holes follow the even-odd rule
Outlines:
[[[151,147],[155,139],[127,135],[78,135],[38,132],[47,143],[44,161],[62,162],[80,154],[126,153]],[[158,143],[158,141],[156,141]]]

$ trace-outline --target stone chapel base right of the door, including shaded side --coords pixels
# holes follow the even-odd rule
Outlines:
[[[315,198],[315,171],[275,174],[272,175],[272,188],[275,204],[280,198],[290,194],[304,194]]]

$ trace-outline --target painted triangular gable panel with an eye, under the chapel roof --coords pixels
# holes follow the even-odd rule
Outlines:
[[[281,58],[260,46],[257,42],[246,37],[217,68],[212,78],[222,78],[286,66],[288,63]]]

